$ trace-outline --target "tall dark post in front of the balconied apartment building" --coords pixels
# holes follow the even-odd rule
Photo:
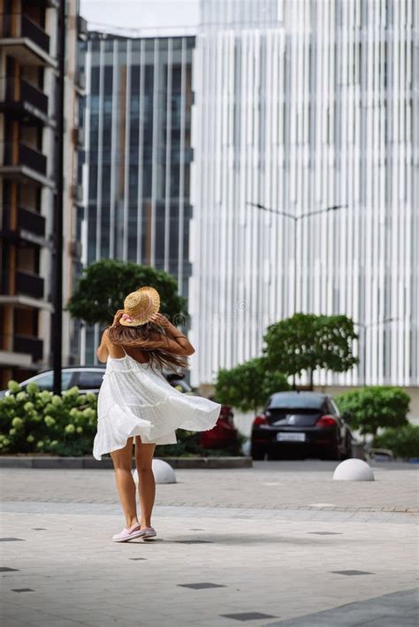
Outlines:
[[[52,270],[51,348],[54,394],[61,394],[63,361],[63,203],[64,203],[64,90],[65,90],[65,0],[58,8],[58,80],[57,80],[57,192],[54,199],[54,263]]]

